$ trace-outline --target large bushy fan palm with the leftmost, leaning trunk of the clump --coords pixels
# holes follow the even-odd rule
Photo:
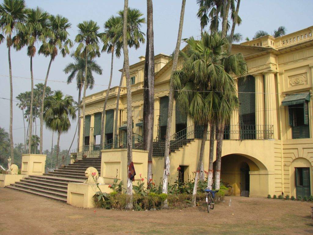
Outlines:
[[[183,68],[173,72],[175,99],[179,108],[195,123],[203,125],[203,138],[196,169],[192,204],[195,206],[199,171],[203,161],[208,123],[216,117],[227,119],[225,109],[238,106],[235,84],[230,74],[243,74],[242,54],[228,56],[228,40],[218,33],[203,33],[200,41],[187,39],[187,49],[180,52]]]

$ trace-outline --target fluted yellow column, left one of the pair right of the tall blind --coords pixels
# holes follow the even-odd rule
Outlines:
[[[264,138],[264,78],[263,74],[253,75],[255,78],[255,129],[256,139]]]

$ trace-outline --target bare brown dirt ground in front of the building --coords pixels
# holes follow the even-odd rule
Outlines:
[[[232,196],[209,214],[203,206],[113,211],[82,209],[0,188],[0,234],[313,234],[310,206],[313,203]]]

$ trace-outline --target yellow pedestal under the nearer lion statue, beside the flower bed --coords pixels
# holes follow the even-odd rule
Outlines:
[[[110,193],[109,185],[99,185],[102,192]],[[84,208],[94,208],[95,201],[92,198],[99,191],[95,184],[68,183],[67,204]]]

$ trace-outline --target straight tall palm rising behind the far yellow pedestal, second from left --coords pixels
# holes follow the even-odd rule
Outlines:
[[[46,37],[51,37],[49,26],[49,13],[37,7],[27,13],[27,19],[23,31],[13,39],[17,50],[23,45],[27,45],[27,55],[30,57],[30,75],[31,75],[31,100],[30,107],[33,107],[34,90],[33,90],[33,57],[36,55],[36,44],[38,40],[44,42]],[[30,119],[33,118],[33,109],[30,109]],[[32,122],[29,122],[29,135],[32,136]],[[32,138],[28,141],[28,153],[31,153]]]

